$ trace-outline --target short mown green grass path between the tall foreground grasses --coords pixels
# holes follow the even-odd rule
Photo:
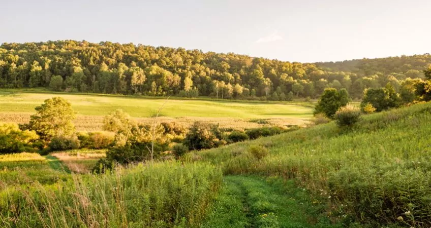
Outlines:
[[[293,181],[226,176],[202,227],[341,227],[331,225],[322,209]]]

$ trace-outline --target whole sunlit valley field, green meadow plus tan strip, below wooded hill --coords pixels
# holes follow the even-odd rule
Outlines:
[[[101,130],[103,116],[118,108],[141,122],[151,123],[165,102],[160,98],[3,91],[0,94],[0,122],[26,123],[36,106],[54,96],[71,102],[77,113],[77,129],[87,131]],[[220,123],[223,128],[245,129],[262,126],[253,122],[257,119],[265,120],[268,125],[305,125],[312,112],[313,105],[308,102],[169,99],[160,116],[161,121],[175,121],[183,126],[206,121]]]

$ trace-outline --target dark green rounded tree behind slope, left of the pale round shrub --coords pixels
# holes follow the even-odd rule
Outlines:
[[[335,112],[349,102],[347,90],[340,91],[334,88],[326,88],[316,105],[314,113],[324,113],[326,117],[333,118]]]

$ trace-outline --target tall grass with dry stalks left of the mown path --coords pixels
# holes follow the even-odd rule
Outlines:
[[[221,179],[212,165],[164,162],[8,187],[0,193],[0,226],[196,227]]]

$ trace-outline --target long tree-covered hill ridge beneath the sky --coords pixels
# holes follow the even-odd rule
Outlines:
[[[429,55],[311,64],[111,42],[4,43],[0,88],[290,100],[333,87],[360,98],[388,82],[398,90],[429,63]]]

